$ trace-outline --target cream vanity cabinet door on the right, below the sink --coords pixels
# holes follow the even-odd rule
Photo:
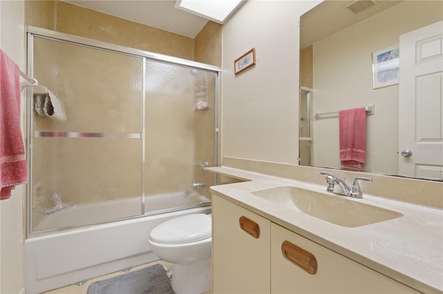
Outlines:
[[[271,293],[418,293],[276,224],[271,224],[271,236]],[[314,255],[316,273],[308,273],[286,259],[284,241]],[[299,262],[309,259],[297,252],[292,257]]]

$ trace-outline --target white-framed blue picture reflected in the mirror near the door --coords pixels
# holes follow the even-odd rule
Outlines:
[[[399,44],[372,52],[372,88],[399,84]]]

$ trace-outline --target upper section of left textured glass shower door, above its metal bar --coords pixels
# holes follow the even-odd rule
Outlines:
[[[44,115],[34,97],[34,130],[141,133],[141,57],[35,37],[33,71],[54,104]]]

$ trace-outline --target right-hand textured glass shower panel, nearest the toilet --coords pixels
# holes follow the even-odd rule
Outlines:
[[[147,213],[210,202],[215,177],[215,73],[156,61],[146,65]]]

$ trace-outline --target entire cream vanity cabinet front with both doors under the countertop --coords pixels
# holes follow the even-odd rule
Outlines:
[[[213,194],[213,293],[419,292]]]

